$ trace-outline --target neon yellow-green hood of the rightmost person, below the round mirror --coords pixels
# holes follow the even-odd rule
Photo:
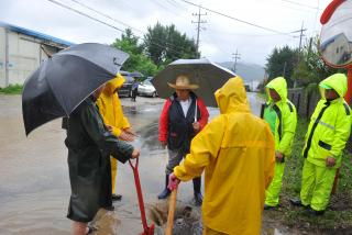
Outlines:
[[[344,74],[334,74],[323,79],[319,83],[320,94],[326,99],[326,89],[330,88],[338,92],[340,98],[343,98],[348,92],[348,78]]]

